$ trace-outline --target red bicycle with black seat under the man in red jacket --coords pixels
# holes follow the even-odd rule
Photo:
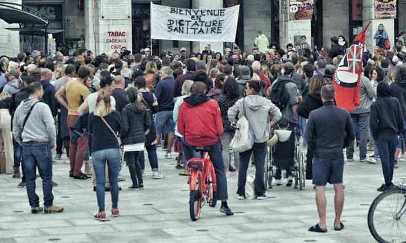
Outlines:
[[[186,163],[188,184],[190,189],[189,213],[192,221],[199,219],[201,208],[208,202],[210,207],[216,207],[216,173],[210,160],[210,147],[195,147],[195,151],[204,152],[203,158],[191,158]]]

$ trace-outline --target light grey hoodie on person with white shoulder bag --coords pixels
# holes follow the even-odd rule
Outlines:
[[[244,114],[248,120],[250,129],[254,134],[254,143],[263,143],[268,141],[270,135],[270,120],[279,121],[282,113],[276,105],[270,100],[259,95],[250,95],[241,98],[235,102],[233,107],[228,110],[230,122],[236,122],[236,116],[240,118]]]

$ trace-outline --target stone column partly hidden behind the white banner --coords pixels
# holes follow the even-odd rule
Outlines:
[[[222,0],[192,0],[192,9],[221,9],[223,7]],[[212,51],[223,52],[223,43],[215,42],[215,40],[193,41],[193,52],[201,52],[206,44],[212,45]]]

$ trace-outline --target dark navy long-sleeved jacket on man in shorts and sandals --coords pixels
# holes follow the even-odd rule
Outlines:
[[[336,107],[333,101],[324,102],[310,112],[305,139],[313,158],[343,159],[343,148],[354,141],[350,114]]]

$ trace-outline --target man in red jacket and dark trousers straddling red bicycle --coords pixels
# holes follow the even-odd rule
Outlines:
[[[221,200],[220,212],[227,216],[234,213],[227,205],[227,178],[224,171],[220,135],[223,134],[220,108],[216,100],[206,95],[207,86],[195,82],[191,95],[184,99],[179,108],[178,132],[184,136],[182,145],[186,160],[193,157],[195,147],[207,147],[213,162],[217,180],[217,200]]]

